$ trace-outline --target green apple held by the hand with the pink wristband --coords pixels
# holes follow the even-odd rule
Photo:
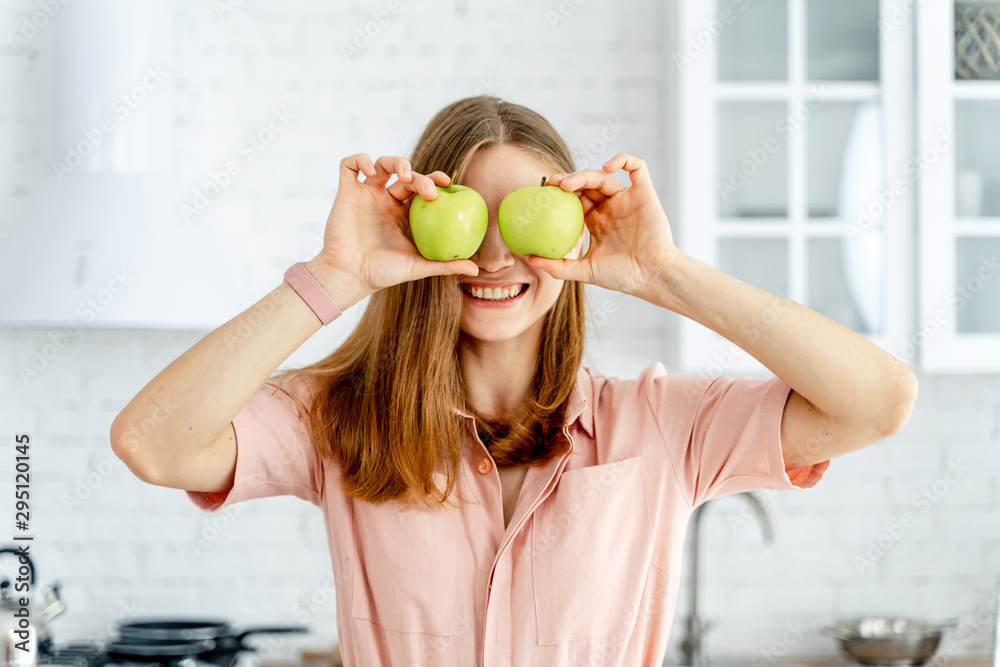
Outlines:
[[[435,186],[438,196],[416,195],[410,203],[410,232],[426,259],[469,259],[486,238],[490,213],[482,195],[470,187]]]

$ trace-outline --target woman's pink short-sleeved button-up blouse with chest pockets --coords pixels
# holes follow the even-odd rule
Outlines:
[[[785,470],[790,390],[777,378],[671,377],[659,362],[636,380],[583,367],[563,429],[573,451],[528,468],[505,529],[471,416],[456,480],[471,503],[376,505],[341,491],[295,397],[268,380],[233,419],[233,488],[187,494],[210,512],[276,495],[323,510],[345,665],[660,665],[692,510],[751,489],[807,489],[830,465]]]

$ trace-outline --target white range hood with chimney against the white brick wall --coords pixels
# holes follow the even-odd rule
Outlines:
[[[67,3],[23,47],[42,65],[21,104],[50,123],[0,243],[0,326],[204,329],[238,312],[239,276],[178,214],[176,14]]]

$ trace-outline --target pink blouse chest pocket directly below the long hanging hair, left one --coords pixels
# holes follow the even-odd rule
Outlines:
[[[451,637],[458,594],[453,510],[354,503],[351,617],[386,630]]]

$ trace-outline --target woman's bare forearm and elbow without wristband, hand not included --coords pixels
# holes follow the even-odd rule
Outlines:
[[[793,389],[781,423],[786,469],[866,447],[910,418],[913,372],[864,336],[679,251],[651,278],[636,296],[724,336]]]

